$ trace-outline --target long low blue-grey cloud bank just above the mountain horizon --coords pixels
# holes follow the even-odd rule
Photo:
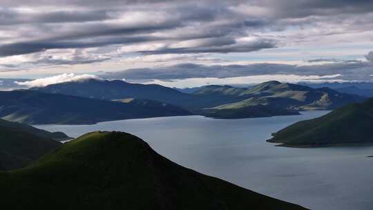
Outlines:
[[[179,64],[159,68],[135,68],[115,73],[106,73],[108,79],[188,79],[227,78],[254,75],[338,75],[338,79],[369,79],[373,70],[368,62],[296,66],[287,64],[213,65]]]

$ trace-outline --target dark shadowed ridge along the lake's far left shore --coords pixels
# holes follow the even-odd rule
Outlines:
[[[0,117],[26,124],[94,124],[190,114],[182,108],[149,100],[124,103],[35,90],[0,91]]]

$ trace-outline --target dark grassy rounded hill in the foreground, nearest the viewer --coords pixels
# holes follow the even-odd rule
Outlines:
[[[88,133],[0,173],[0,189],[4,209],[304,209],[184,168],[119,132]]]

